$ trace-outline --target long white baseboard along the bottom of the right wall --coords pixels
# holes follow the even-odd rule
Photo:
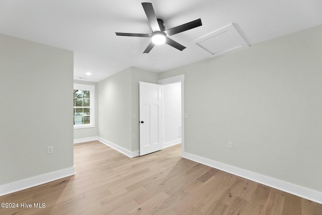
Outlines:
[[[261,175],[258,173],[254,173],[248,170],[229,166],[227,164],[223,164],[190,153],[184,152],[182,153],[182,157],[322,204],[321,192],[301,187],[295,184],[291,184],[285,181],[281,181],[275,178],[271,178],[265,175]]]

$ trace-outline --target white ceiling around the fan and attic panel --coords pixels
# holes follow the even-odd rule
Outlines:
[[[150,38],[115,35],[151,33],[141,2],[166,29],[198,18],[202,26],[170,36],[183,51],[163,44],[143,54]],[[208,58],[194,41],[230,23],[253,45],[322,24],[322,1],[0,0],[0,33],[73,51],[74,79],[92,82],[129,66],[161,72]]]

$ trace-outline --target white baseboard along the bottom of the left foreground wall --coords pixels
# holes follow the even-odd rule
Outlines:
[[[0,196],[75,175],[75,167],[58,170],[0,186]]]

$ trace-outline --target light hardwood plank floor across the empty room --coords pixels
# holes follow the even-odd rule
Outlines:
[[[74,165],[74,176],[0,197],[44,208],[0,214],[322,214],[321,204],[181,158],[180,145],[128,158],[76,144]]]

